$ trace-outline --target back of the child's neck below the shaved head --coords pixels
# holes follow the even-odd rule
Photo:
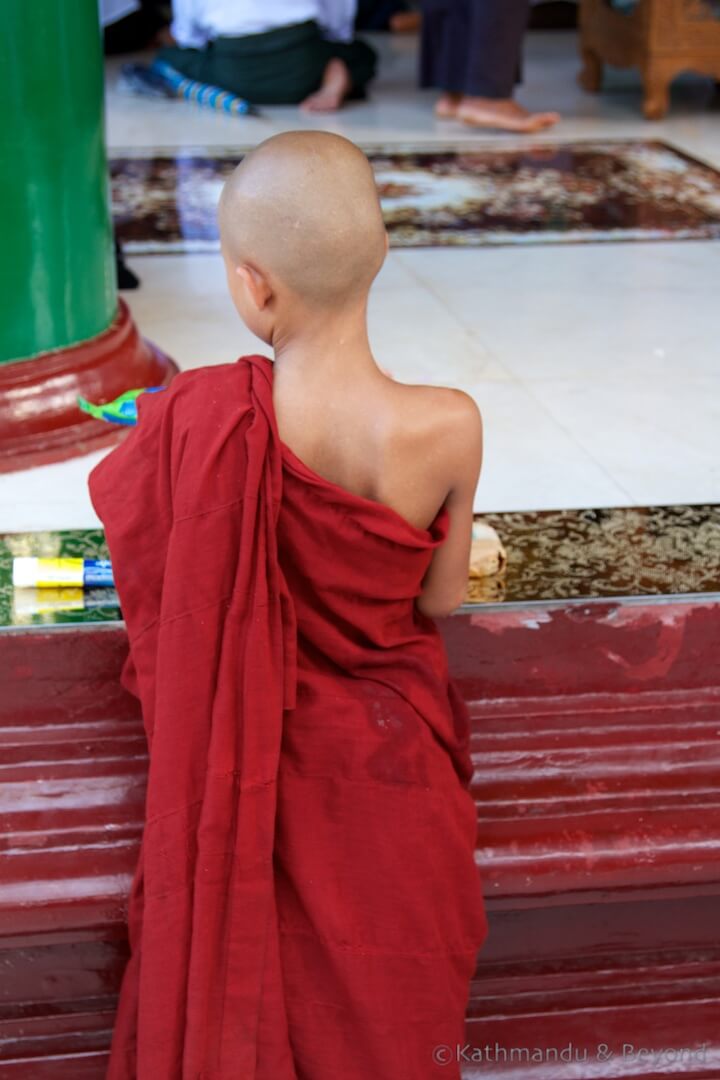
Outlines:
[[[337,312],[302,312],[277,327],[272,338],[275,377],[286,373],[303,380],[356,378],[379,368],[367,336],[367,300]]]

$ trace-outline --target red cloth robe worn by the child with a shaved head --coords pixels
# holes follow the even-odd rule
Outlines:
[[[454,1080],[487,921],[415,608],[446,511],[308,469],[262,356],[140,395],[89,485],[150,758],[108,1080]]]

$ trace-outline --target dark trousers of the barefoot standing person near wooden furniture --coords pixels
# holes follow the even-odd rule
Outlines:
[[[420,85],[512,97],[529,11],[529,0],[423,0]]]

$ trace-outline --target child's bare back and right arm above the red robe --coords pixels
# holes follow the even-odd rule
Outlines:
[[[445,387],[396,382],[373,367],[361,376],[336,369],[317,380],[276,370],[273,403],[282,441],[325,480],[390,507],[418,528],[447,505],[448,538],[420,606],[429,615],[457,607],[467,582],[481,463],[473,400]]]

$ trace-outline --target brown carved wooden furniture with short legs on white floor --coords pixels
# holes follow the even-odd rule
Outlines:
[[[601,87],[603,64],[640,68],[649,120],[665,116],[681,71],[720,79],[720,19],[709,0],[638,0],[628,11],[581,0],[580,49],[580,84],[592,93]]]

